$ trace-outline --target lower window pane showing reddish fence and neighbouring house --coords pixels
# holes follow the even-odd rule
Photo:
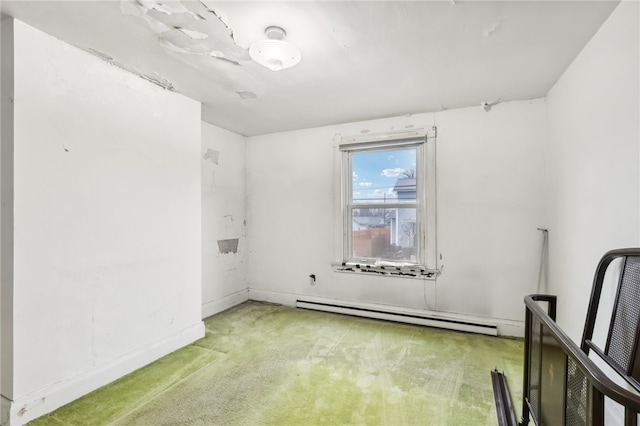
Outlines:
[[[352,257],[416,261],[416,209],[353,209]]]

